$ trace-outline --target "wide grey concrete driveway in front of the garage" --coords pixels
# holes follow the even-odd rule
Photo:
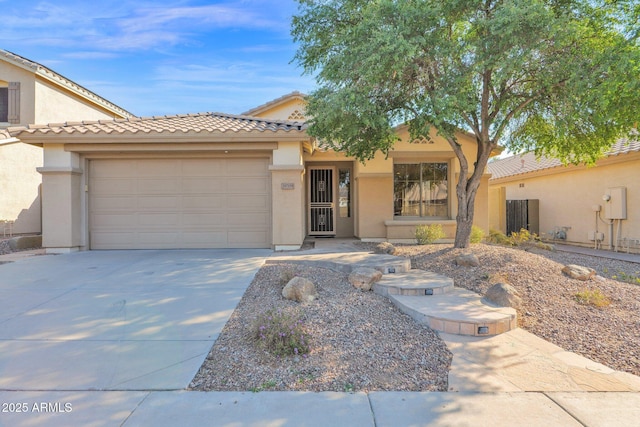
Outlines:
[[[184,389],[269,254],[91,251],[0,265],[0,389]]]

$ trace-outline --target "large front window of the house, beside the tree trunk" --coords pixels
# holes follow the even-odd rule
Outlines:
[[[448,218],[447,163],[394,165],[394,215]]]

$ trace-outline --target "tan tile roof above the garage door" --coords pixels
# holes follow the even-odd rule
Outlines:
[[[269,120],[222,113],[181,114],[173,116],[134,117],[115,120],[50,123],[8,128],[16,137],[55,134],[176,134],[237,132],[304,132],[304,122]]]

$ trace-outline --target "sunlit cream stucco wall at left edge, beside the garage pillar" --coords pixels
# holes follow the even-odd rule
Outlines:
[[[41,148],[0,142],[0,220],[14,221],[15,234],[40,232],[40,166]]]

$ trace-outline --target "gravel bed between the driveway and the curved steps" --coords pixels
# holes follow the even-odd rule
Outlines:
[[[312,280],[318,298],[285,300],[281,275]],[[299,311],[310,337],[306,356],[259,350],[251,322],[268,309]],[[387,298],[353,288],[347,275],[323,268],[267,265],[260,269],[191,383],[220,391],[446,391],[451,353],[431,329]]]

